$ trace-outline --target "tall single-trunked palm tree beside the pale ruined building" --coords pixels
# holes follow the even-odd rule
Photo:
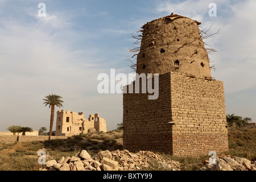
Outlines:
[[[48,95],[46,96],[43,101],[44,101],[44,104],[47,106],[49,105],[49,108],[51,107],[51,119],[50,119],[50,128],[49,128],[49,139],[52,135],[52,126],[53,126],[53,119],[54,119],[54,111],[55,111],[55,106],[57,107],[63,107],[63,105],[61,103],[63,103],[63,101],[61,101],[61,98],[60,96],[57,96],[57,95]]]

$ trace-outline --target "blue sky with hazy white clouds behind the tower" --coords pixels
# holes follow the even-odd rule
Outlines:
[[[46,16],[39,16],[39,3]],[[210,3],[216,16],[209,16]],[[108,130],[122,122],[122,94],[100,94],[100,73],[133,73],[131,34],[151,20],[179,14],[213,34],[206,40],[212,77],[224,81],[226,113],[256,121],[256,1],[0,0],[0,131],[11,125],[49,129],[48,94],[62,108],[99,113]],[[40,11],[41,12],[41,11]],[[133,60],[136,61],[136,60]],[[53,123],[53,130],[56,125]]]

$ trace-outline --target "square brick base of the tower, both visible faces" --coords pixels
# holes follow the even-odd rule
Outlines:
[[[123,94],[124,148],[179,156],[228,150],[223,82],[169,72],[159,75],[159,98],[147,96]]]

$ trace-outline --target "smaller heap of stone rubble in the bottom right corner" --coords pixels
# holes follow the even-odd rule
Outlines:
[[[208,160],[204,164],[207,171],[256,171],[256,162],[225,154],[217,157],[213,164],[209,164]]]

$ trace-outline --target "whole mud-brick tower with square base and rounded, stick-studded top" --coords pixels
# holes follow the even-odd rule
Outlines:
[[[148,100],[148,93],[123,93],[127,150],[177,156],[228,150],[224,83],[211,77],[199,24],[170,15],[142,27],[137,73],[159,73],[159,85],[154,85],[159,86],[159,97]]]

